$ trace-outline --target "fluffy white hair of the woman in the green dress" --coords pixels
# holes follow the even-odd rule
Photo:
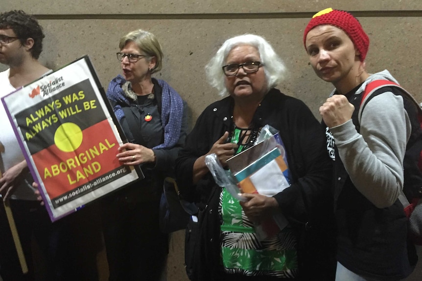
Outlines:
[[[217,53],[211,58],[210,62],[205,66],[208,83],[215,87],[221,96],[225,96],[229,93],[224,83],[225,74],[222,67],[225,65],[230,51],[238,45],[250,45],[258,49],[261,63],[265,65],[264,73],[268,89],[276,86],[284,79],[286,68],[270,43],[254,34],[236,36],[226,40],[218,49]]]

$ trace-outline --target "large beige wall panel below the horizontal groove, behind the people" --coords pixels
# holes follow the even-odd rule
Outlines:
[[[422,101],[420,72],[421,18],[362,18],[371,39],[367,68],[388,68]],[[115,53],[120,36],[135,28],[153,32],[163,45],[164,68],[156,77],[166,80],[188,101],[192,119],[219,99],[208,86],[204,65],[225,39],[243,33],[265,37],[284,59],[289,72],[279,88],[303,99],[318,117],[318,107],[332,86],[319,80],[308,65],[303,45],[307,19],[273,20],[42,20],[46,32],[41,61],[55,69],[88,54],[102,85],[120,73]],[[4,65],[1,67],[5,68]],[[318,117],[319,118],[319,117]]]

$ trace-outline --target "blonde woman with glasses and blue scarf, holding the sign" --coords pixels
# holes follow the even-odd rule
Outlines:
[[[109,280],[158,281],[168,252],[168,237],[159,227],[160,198],[185,142],[185,102],[165,81],[151,77],[163,59],[152,33],[132,31],[119,48],[122,75],[110,82],[107,97],[129,142],[119,147],[117,158],[141,165],[145,178],[103,200]]]

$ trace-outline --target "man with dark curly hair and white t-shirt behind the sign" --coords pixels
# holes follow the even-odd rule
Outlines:
[[[38,61],[44,37],[33,16],[16,10],[0,14],[0,63],[9,66],[0,72],[0,97],[51,71]],[[48,281],[72,280],[75,270],[69,262],[77,259],[68,245],[72,239],[70,222],[63,219],[51,223],[46,208],[34,194],[33,179],[1,104],[0,120],[0,196],[9,201],[28,265],[28,273],[23,274],[0,204],[0,275],[4,281],[35,280],[35,275]],[[39,249],[36,262],[31,251],[34,242]]]

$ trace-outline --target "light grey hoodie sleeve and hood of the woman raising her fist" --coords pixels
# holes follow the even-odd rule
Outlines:
[[[384,70],[366,79],[355,95],[378,79],[398,83]],[[403,188],[403,157],[411,133],[403,98],[385,92],[371,99],[362,112],[360,132],[352,119],[329,130],[356,189],[378,208],[394,204]]]

